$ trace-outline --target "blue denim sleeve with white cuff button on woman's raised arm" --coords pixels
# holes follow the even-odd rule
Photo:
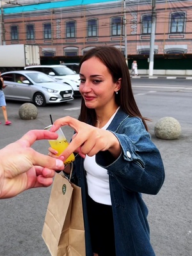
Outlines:
[[[142,121],[127,118],[114,133],[122,154],[113,159],[109,152],[100,151],[95,156],[97,164],[113,173],[122,188],[156,195],[164,182],[163,160]]]

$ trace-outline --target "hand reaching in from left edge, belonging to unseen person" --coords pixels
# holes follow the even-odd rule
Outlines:
[[[55,170],[63,170],[63,157],[54,159],[36,152],[36,140],[55,140],[58,134],[45,130],[29,131],[20,140],[0,150],[0,198],[10,198],[29,188],[52,184]]]

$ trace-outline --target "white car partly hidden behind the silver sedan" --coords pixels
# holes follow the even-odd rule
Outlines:
[[[79,92],[79,74],[66,67],[65,65],[37,65],[24,67],[25,70],[36,70],[43,72],[51,77],[54,77],[61,83],[66,83],[72,86],[74,90],[74,96],[80,96]]]

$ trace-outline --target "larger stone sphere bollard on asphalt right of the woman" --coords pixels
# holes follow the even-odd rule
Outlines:
[[[156,123],[155,135],[163,140],[175,140],[180,136],[181,128],[179,122],[173,117],[163,117]]]

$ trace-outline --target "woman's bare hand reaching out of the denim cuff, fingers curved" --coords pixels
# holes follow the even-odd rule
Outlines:
[[[76,131],[67,149],[61,154],[65,159],[72,152],[77,152],[82,157],[93,156],[99,151],[105,150],[109,150],[115,158],[120,155],[120,143],[112,132],[85,124],[70,116],[56,120],[51,131],[57,131],[63,125],[69,125]]]

